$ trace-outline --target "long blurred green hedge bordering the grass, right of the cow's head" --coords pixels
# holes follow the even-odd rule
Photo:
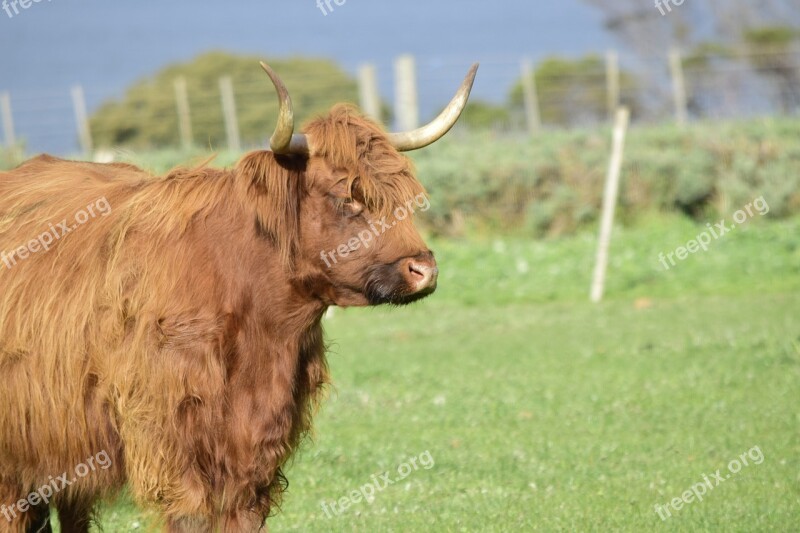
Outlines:
[[[619,217],[682,212],[698,221],[730,215],[764,196],[770,216],[800,211],[800,123],[763,120],[634,128],[629,132]],[[610,132],[535,138],[470,134],[415,152],[432,228],[524,229],[561,235],[593,224],[602,204]],[[454,210],[464,215],[452,227]]]

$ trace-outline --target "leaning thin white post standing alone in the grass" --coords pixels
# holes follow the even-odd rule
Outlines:
[[[611,163],[608,167],[605,191],[603,192],[603,215],[600,221],[600,240],[597,246],[597,260],[592,279],[592,302],[603,299],[608,269],[608,248],[611,243],[611,230],[614,227],[614,211],[619,196],[619,179],[622,173],[622,157],[625,151],[625,133],[630,122],[630,111],[626,107],[617,110],[614,120],[614,146]]]

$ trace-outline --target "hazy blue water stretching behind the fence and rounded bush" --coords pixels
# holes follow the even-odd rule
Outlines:
[[[324,56],[350,72],[374,62],[386,99],[392,60],[412,53],[427,116],[473,61],[482,62],[475,97],[501,101],[522,57],[613,45],[600,14],[580,0],[331,5],[323,14],[316,0],[41,0],[12,18],[0,10],[0,91],[11,91],[17,136],[29,152],[68,153],[77,149],[72,85],[83,85],[91,111],[164,65],[211,49]]]

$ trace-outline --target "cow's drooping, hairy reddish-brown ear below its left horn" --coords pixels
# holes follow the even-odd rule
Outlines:
[[[256,151],[236,167],[237,181],[252,205],[256,223],[291,268],[299,237],[300,192],[307,159]]]

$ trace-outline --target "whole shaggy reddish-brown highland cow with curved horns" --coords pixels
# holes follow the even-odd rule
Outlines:
[[[272,150],[233,170],[0,173],[0,531],[48,531],[50,504],[87,531],[126,484],[169,531],[260,530],[328,381],[326,309],[436,288],[399,152],[452,127],[477,65],[420,130],[336,106],[302,135],[263,66]]]

